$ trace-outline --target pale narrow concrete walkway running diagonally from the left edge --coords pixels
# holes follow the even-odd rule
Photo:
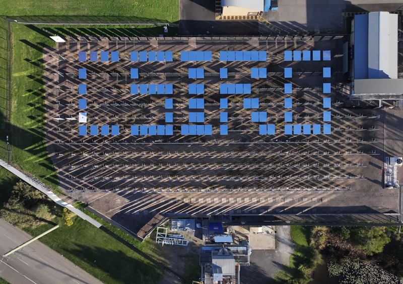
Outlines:
[[[7,169],[8,171],[14,173],[16,176],[18,176],[19,178],[21,178],[22,180],[24,180],[25,182],[27,182],[31,186],[35,187],[38,191],[40,191],[43,194],[47,195],[53,202],[57,203],[58,205],[60,205],[62,207],[65,207],[65,208],[69,209],[70,211],[75,213],[77,216],[80,216],[82,219],[90,222],[95,227],[100,228],[102,226],[101,223],[99,223],[98,221],[92,219],[87,214],[84,214],[82,211],[78,210],[73,205],[62,201],[51,190],[49,190],[49,188],[46,187],[43,184],[43,182],[41,182],[41,181],[39,181],[39,180],[37,180],[37,179],[35,179],[33,177],[30,177],[30,176],[26,175],[25,173],[19,171],[18,169],[16,169],[12,165],[6,163],[5,161],[3,161],[1,159],[0,159],[0,166],[2,166],[5,169]]]

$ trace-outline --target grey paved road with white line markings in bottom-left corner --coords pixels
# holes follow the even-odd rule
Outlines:
[[[0,219],[0,255],[31,238],[24,231]],[[12,284],[102,283],[39,241],[34,241],[9,257],[0,256],[0,277]]]

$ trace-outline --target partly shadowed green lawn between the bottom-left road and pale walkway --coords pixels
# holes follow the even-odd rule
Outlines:
[[[76,218],[70,227],[61,220],[59,224],[58,229],[40,241],[104,283],[156,283],[163,273],[153,263],[81,218]],[[36,236],[50,227],[46,224],[24,230]]]

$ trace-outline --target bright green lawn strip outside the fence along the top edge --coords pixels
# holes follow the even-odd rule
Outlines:
[[[9,16],[133,16],[178,21],[178,0],[0,0]]]

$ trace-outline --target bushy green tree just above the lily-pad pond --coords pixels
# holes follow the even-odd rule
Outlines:
[[[380,253],[383,247],[390,242],[385,227],[358,227],[350,229],[352,242],[368,255]]]

